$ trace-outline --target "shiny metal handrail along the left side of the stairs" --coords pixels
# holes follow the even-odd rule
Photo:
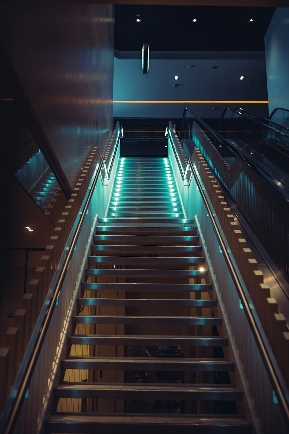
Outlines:
[[[117,143],[115,146],[115,150],[114,150],[114,154],[113,154],[113,161],[114,161],[114,158],[116,155],[116,150],[118,147],[119,139],[120,139],[120,136],[118,137],[118,140],[117,140]],[[113,161],[112,161],[111,167],[113,165]],[[9,414],[7,414],[6,421],[3,422],[3,424],[4,424],[3,430],[2,430],[3,434],[12,434],[13,433],[13,429],[14,429],[15,424],[17,422],[17,415],[20,412],[20,408],[21,408],[21,405],[22,405],[23,400],[25,398],[25,394],[26,394],[27,388],[29,386],[30,379],[33,375],[33,370],[34,370],[35,365],[37,363],[37,358],[40,355],[40,350],[41,350],[41,347],[43,345],[45,335],[47,333],[50,321],[52,319],[53,311],[55,309],[58,297],[60,295],[61,287],[63,285],[64,279],[66,276],[66,272],[67,272],[68,267],[70,265],[73,251],[74,251],[74,248],[76,247],[76,242],[77,242],[77,239],[80,235],[80,231],[81,231],[81,228],[83,226],[84,218],[86,216],[86,211],[88,210],[88,206],[90,204],[90,200],[92,198],[94,188],[96,186],[96,182],[99,178],[100,171],[101,171],[103,164],[105,164],[105,157],[104,156],[100,160],[100,165],[97,168],[95,177],[93,179],[93,183],[91,184],[90,192],[86,198],[85,204],[83,206],[83,210],[80,212],[80,220],[76,226],[76,229],[74,231],[74,234],[73,234],[73,237],[72,237],[72,240],[70,243],[70,247],[68,249],[68,253],[66,254],[66,258],[64,260],[63,266],[61,267],[61,270],[59,272],[59,276],[58,276],[58,279],[56,281],[56,285],[53,289],[51,299],[49,301],[49,304],[47,305],[45,316],[44,316],[44,318],[43,318],[43,320],[39,326],[39,332],[38,332],[37,337],[35,339],[35,342],[33,344],[33,348],[30,351],[30,356],[29,356],[29,359],[27,361],[27,367],[25,368],[23,375],[22,375],[22,378],[20,380],[20,385],[17,389],[15,399],[14,399],[13,404],[11,406],[12,408],[10,409]]]

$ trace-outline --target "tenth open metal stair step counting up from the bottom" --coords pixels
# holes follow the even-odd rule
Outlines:
[[[111,244],[102,244],[91,246],[92,252],[100,252],[100,253],[139,253],[139,254],[187,254],[187,253],[195,253],[202,252],[201,246],[123,246],[123,245],[111,245]]]

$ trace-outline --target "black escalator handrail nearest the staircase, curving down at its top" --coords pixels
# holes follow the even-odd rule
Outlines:
[[[194,112],[192,112],[188,108],[184,109],[184,112],[183,112],[182,126],[180,129],[180,137],[181,137],[181,134],[183,132],[183,124],[185,122],[186,112],[189,112],[192,116],[194,116],[194,118],[196,118],[196,120],[200,124],[202,124],[213,136],[215,136],[216,139],[219,140],[220,143],[222,143],[222,145],[226,146],[226,148],[229,149],[229,151],[231,151],[233,153],[233,155],[235,155],[235,157],[240,158],[245,164],[247,164],[247,166],[249,166],[249,168],[252,169],[252,171],[254,171],[259,176],[259,178],[262,179],[262,181],[264,181],[269,187],[271,187],[275,191],[276,194],[278,194],[284,201],[286,201],[289,204],[289,191],[285,186],[281,185],[280,189],[275,187],[274,184],[276,184],[277,180],[272,175],[270,175],[269,173],[265,174],[264,169],[259,168],[257,164],[253,164],[249,160],[249,158],[247,158],[245,155],[242,154],[242,152],[239,151],[239,149],[233,147],[232,144],[230,144],[228,141],[226,141],[221,135],[219,135],[218,132],[216,132],[205,121],[203,121],[203,119],[199,118],[198,115],[196,115]],[[268,181],[268,178],[270,179],[270,181],[272,183]]]

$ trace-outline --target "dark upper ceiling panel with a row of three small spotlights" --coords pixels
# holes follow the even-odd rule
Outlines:
[[[264,51],[274,11],[274,7],[116,5],[114,48],[140,51],[147,42],[151,51]]]

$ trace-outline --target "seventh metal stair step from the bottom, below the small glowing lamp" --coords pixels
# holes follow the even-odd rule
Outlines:
[[[113,269],[111,270],[113,271]],[[122,271],[122,270],[118,270]],[[133,271],[133,270],[132,270]],[[166,270],[168,271],[168,270]],[[200,291],[213,289],[211,283],[96,283],[83,282],[81,288],[92,291]]]

